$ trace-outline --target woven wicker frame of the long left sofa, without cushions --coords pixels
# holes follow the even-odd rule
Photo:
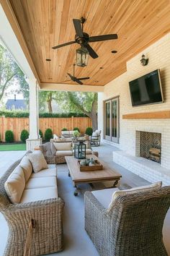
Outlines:
[[[12,204],[4,183],[21,160],[15,162],[0,179],[0,211],[8,226],[9,236],[4,255],[45,255],[63,249],[63,205],[61,198]],[[24,254],[30,222],[34,221],[30,253]]]

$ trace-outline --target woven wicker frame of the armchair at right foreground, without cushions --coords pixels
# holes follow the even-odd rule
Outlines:
[[[85,229],[103,256],[168,256],[162,239],[170,187],[119,196],[107,211],[85,193]]]

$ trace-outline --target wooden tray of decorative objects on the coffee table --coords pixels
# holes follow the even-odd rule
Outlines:
[[[94,158],[86,158],[84,160],[78,160],[80,171],[100,171],[102,170],[102,164]]]

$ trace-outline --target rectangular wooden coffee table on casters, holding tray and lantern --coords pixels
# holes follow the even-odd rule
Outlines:
[[[78,160],[71,156],[65,156],[66,163],[68,166],[68,176],[71,176],[74,187],[76,187],[74,191],[74,195],[78,195],[79,187],[78,184],[89,183],[92,184],[94,182],[108,182],[113,181],[113,186],[115,187],[122,175],[120,175],[114,169],[111,169],[104,163],[101,159],[97,158],[96,155],[88,155],[88,158],[97,159],[100,163],[102,163],[103,169],[99,171],[80,171]]]

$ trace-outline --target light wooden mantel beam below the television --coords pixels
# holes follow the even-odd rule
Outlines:
[[[124,114],[122,119],[170,119],[170,110]]]

